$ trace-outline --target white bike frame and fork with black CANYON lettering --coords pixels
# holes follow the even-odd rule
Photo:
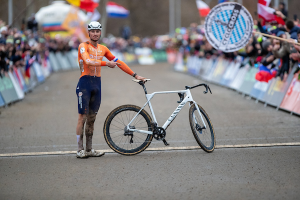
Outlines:
[[[139,130],[139,129],[133,129],[130,128],[129,125],[134,121],[134,119],[137,117],[137,115],[139,114],[139,112],[148,104],[149,108],[150,108],[150,112],[153,118],[153,121],[157,124],[157,120],[154,114],[154,110],[152,108],[151,102],[150,100],[153,98],[153,96],[155,94],[162,94],[162,93],[186,93],[186,96],[183,98],[183,100],[179,103],[179,105],[177,106],[177,108],[172,112],[172,114],[169,116],[169,118],[165,121],[165,123],[162,125],[163,129],[166,129],[167,126],[173,121],[173,119],[177,116],[177,114],[179,113],[179,111],[182,109],[182,107],[186,104],[186,102],[192,102],[191,104],[194,104],[196,106],[196,109],[200,115],[201,121],[204,124],[204,127],[206,128],[206,124],[203,120],[202,114],[199,110],[199,107],[197,105],[197,103],[192,99],[191,93],[190,93],[190,89],[184,89],[184,90],[175,90],[175,91],[156,91],[150,94],[145,94],[146,95],[146,99],[147,102],[141,107],[141,109],[136,113],[136,115],[131,119],[131,121],[128,123],[127,125],[127,130],[129,131],[133,131],[133,132],[141,132],[141,133],[147,133],[147,134],[153,134],[152,131],[147,131],[147,130]],[[191,106],[191,104],[189,106]],[[193,116],[195,122],[195,116]]]

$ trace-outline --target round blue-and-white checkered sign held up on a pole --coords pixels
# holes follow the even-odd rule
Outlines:
[[[233,52],[244,47],[252,36],[253,19],[239,3],[224,2],[214,6],[205,17],[205,37],[216,49]]]

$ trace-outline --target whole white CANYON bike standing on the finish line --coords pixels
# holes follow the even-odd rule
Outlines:
[[[146,79],[146,81],[148,80],[150,79]],[[192,133],[204,151],[213,151],[215,147],[215,136],[211,121],[205,110],[193,100],[190,93],[190,89],[201,85],[206,88],[206,91],[203,91],[203,93],[207,93],[208,90],[210,91],[207,84],[202,83],[192,87],[185,86],[184,90],[156,91],[147,94],[144,82],[136,79],[133,81],[143,87],[147,102],[142,107],[130,104],[121,105],[108,114],[104,122],[103,132],[104,138],[112,150],[123,155],[134,155],[146,149],[153,137],[157,140],[162,140],[165,145],[169,145],[164,139],[165,129],[173,121],[185,103],[189,102],[188,118]],[[179,103],[177,108],[160,127],[157,124],[150,100],[155,94],[161,93],[178,93],[180,100],[177,101],[177,103]],[[184,94],[186,94],[185,97]],[[153,120],[143,109],[147,104],[150,108]]]

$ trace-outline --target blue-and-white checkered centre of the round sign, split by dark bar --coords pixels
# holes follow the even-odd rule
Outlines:
[[[225,23],[229,22],[229,18],[231,16],[232,10],[223,10],[220,13],[218,13],[215,17],[214,20],[221,20]],[[226,26],[222,24],[217,24],[216,22],[213,22],[211,25],[213,35],[215,38],[219,41],[222,40],[222,35],[225,32]],[[240,38],[242,38],[244,34],[244,30],[246,28],[245,20],[244,18],[239,14],[237,17],[237,20],[235,22],[231,37],[230,37],[230,42],[229,43],[235,43],[237,42]]]

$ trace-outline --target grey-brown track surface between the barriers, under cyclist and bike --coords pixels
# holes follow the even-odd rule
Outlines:
[[[184,89],[202,83],[174,72],[166,63],[131,66],[147,78],[148,93]],[[79,71],[52,74],[22,101],[0,108],[0,154],[74,151]],[[93,148],[103,157],[75,154],[0,157],[1,199],[298,199],[300,196],[300,117],[264,107],[235,91],[209,84],[192,89],[193,99],[208,113],[216,145],[276,143],[278,146],[153,150],[133,156],[107,152],[103,123],[116,106],[142,106],[142,87],[119,68],[101,70],[102,100]],[[159,124],[177,106],[177,94],[151,100]],[[148,111],[148,109],[147,109]],[[149,111],[148,111],[149,112]],[[170,147],[197,146],[190,130],[188,106],[166,129]],[[164,147],[162,141],[149,148]],[[110,150],[110,149],[109,149]]]

